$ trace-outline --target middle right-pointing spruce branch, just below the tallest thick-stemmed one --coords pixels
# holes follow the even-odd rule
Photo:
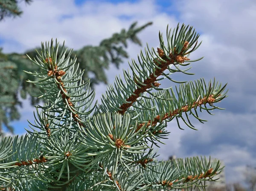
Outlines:
[[[223,92],[226,86],[227,84],[224,86],[218,85],[218,83],[215,83],[215,79],[212,86],[211,82],[209,82],[208,88],[204,79],[197,80],[195,83],[181,84],[179,90],[176,87],[177,98],[172,88],[171,92],[159,91],[155,93],[155,96],[160,98],[142,96],[144,99],[137,100],[136,104],[133,105],[134,110],[128,112],[132,113],[135,119],[138,120],[137,130],[140,129],[140,126],[146,125],[147,130],[145,133],[151,134],[146,139],[157,146],[155,141],[160,142],[160,139],[166,139],[165,137],[169,134],[165,130],[166,122],[176,118],[178,127],[183,129],[178,122],[178,119],[181,118],[189,128],[197,130],[190,122],[188,114],[195,117],[199,122],[204,123],[206,120],[199,118],[197,108],[200,108],[201,112],[202,109],[208,112],[213,109],[222,109],[214,106],[213,103],[220,102],[220,100],[227,97],[227,92]],[[202,99],[199,99],[200,97]],[[212,108],[207,108],[207,103]],[[186,117],[183,117],[183,114]],[[159,124],[157,125],[157,123]]]

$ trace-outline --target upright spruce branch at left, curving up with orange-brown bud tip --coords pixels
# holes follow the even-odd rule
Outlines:
[[[53,40],[51,45],[42,44],[42,53],[40,57],[37,57],[37,60],[32,60],[37,66],[41,67],[46,73],[31,73],[41,80],[39,81],[28,81],[35,84],[41,88],[46,89],[46,92],[36,95],[37,97],[43,97],[46,100],[49,100],[49,105],[44,105],[44,107],[38,106],[38,108],[44,109],[44,111],[52,111],[53,113],[58,113],[58,116],[55,118],[62,120],[64,116],[70,116],[74,120],[74,125],[78,125],[79,128],[84,127],[86,117],[93,111],[95,106],[90,109],[93,98],[95,97],[94,92],[90,92],[89,81],[84,83],[82,80],[83,72],[77,74],[78,66],[75,69],[74,64],[76,63],[76,57],[74,60],[70,60],[70,55],[72,50],[70,50],[68,56],[64,58],[64,44],[62,46],[61,54],[57,58],[58,54],[58,43],[56,40],[55,49],[53,48]],[[66,74],[66,72],[68,74]],[[65,84],[64,84],[65,83]],[[85,88],[85,90],[84,90]],[[80,92],[83,92],[80,94]],[[73,98],[73,101],[72,101]],[[58,105],[58,109],[55,106]],[[96,105],[96,103],[95,103]],[[89,108],[89,111],[84,112]],[[42,120],[42,123],[43,120]],[[48,124],[48,123],[47,123]],[[49,136],[49,125],[45,124],[44,128],[47,131]],[[46,128],[47,126],[47,128]]]

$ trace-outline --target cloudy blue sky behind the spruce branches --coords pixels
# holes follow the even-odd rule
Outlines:
[[[114,76],[128,68],[131,58],[137,60],[140,49],[146,43],[159,46],[159,30],[165,34],[166,26],[185,23],[193,26],[200,34],[201,46],[190,55],[190,59],[204,57],[191,63],[191,73],[178,74],[175,80],[196,80],[203,77],[228,83],[228,96],[214,110],[214,116],[207,112],[201,118],[208,122],[201,124],[192,120],[198,131],[185,124],[180,130],[176,122],[168,123],[171,131],[165,145],[158,151],[159,159],[177,157],[209,156],[224,161],[227,182],[244,179],[246,165],[256,165],[256,65],[252,55],[256,47],[256,2],[254,0],[36,0],[31,5],[20,3],[24,11],[21,17],[6,19],[0,23],[0,47],[4,53],[24,51],[40,46],[41,41],[58,38],[61,43],[75,50],[86,45],[99,45],[121,29],[128,29],[131,23],[138,26],[153,22],[138,37],[143,46],[128,43],[129,58],[120,69],[115,66],[106,70],[108,83]],[[166,81],[162,84],[174,86]],[[106,86],[96,86],[96,99],[105,93]],[[13,122],[16,134],[24,134],[28,128],[26,120],[33,120],[35,109],[25,100],[19,121]],[[190,118],[191,119],[191,118]]]

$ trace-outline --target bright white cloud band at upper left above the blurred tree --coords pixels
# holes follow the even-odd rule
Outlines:
[[[139,4],[124,2],[115,5],[88,1],[79,7],[68,0],[57,0],[54,3],[41,0],[30,6],[21,4],[22,17],[1,23],[3,30],[0,35],[4,38],[2,46],[5,47],[3,51],[21,53],[27,48],[40,45],[41,41],[56,37],[59,41],[65,40],[66,45],[74,49],[90,44],[98,45],[103,38],[123,28],[127,29],[132,22],[139,20],[141,25],[152,19],[154,22],[154,17],[154,27],[161,25],[161,29],[165,30],[170,21],[169,16],[156,14],[153,2],[143,0]],[[122,15],[134,17],[123,20],[119,18]],[[15,44],[20,46],[15,48]]]

